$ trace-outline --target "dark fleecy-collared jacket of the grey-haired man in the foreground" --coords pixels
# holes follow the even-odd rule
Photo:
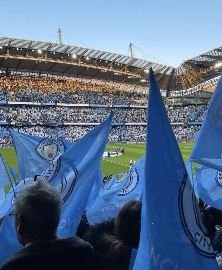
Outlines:
[[[76,236],[33,244],[22,248],[0,270],[104,270],[106,259]]]

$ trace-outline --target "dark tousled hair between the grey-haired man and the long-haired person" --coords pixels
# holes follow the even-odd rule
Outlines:
[[[87,228],[83,240],[89,242],[95,251],[107,255],[109,246],[111,242],[109,241],[109,236],[115,235],[115,219],[109,219],[101,223],[97,223],[89,228]]]

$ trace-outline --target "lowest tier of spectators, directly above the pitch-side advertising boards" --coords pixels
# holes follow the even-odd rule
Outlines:
[[[172,126],[176,139],[193,140],[196,139],[200,125]],[[46,126],[21,126],[13,127],[14,130],[24,132],[34,136],[58,138],[65,141],[76,142],[94,126],[75,125],[63,127],[46,127]],[[145,141],[145,125],[113,125],[110,129],[109,141]],[[0,127],[0,141],[5,144],[11,144],[11,136],[6,127]]]

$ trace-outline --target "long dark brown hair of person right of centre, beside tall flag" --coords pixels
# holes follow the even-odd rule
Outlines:
[[[141,207],[142,201],[129,201],[116,217],[116,237],[109,237],[112,244],[109,247],[108,264],[112,270],[128,270],[132,248],[138,249]]]

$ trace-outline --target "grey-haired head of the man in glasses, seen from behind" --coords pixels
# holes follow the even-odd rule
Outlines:
[[[15,197],[15,229],[22,245],[56,236],[63,200],[45,181],[26,184]]]

